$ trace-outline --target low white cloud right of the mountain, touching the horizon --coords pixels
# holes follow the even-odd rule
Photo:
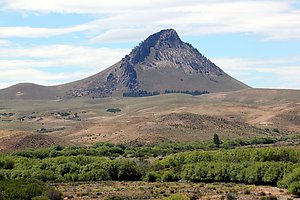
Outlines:
[[[214,58],[238,80],[255,87],[300,89],[300,56],[275,59]]]

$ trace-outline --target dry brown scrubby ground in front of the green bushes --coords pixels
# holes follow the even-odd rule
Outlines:
[[[275,187],[254,186],[233,183],[147,183],[147,182],[94,182],[56,184],[65,199],[162,199],[174,194],[182,194],[190,199],[261,199],[276,196],[279,200],[294,197],[285,190]]]

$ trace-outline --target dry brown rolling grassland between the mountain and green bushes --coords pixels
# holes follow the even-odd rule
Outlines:
[[[296,90],[247,89],[201,96],[1,100],[0,147],[185,142],[211,139],[214,133],[222,139],[298,134],[299,97]]]

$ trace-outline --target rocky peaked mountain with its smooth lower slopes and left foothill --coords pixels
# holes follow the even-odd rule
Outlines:
[[[46,95],[34,95],[33,87]],[[140,90],[227,92],[245,88],[249,87],[181,41],[175,30],[167,29],[149,36],[121,61],[91,77],[54,87],[13,86],[0,90],[0,98],[105,97]]]

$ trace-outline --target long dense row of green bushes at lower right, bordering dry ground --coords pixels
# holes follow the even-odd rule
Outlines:
[[[274,162],[199,162],[183,165],[182,178],[192,182],[240,182],[276,185],[292,166]]]

